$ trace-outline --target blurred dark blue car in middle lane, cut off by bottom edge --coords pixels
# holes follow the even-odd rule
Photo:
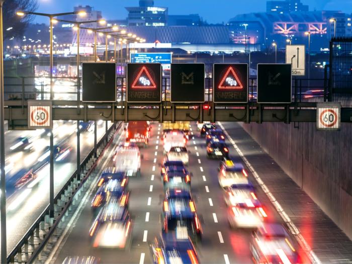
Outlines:
[[[180,239],[174,232],[161,234],[149,246],[154,264],[199,263],[192,241],[189,238]]]

